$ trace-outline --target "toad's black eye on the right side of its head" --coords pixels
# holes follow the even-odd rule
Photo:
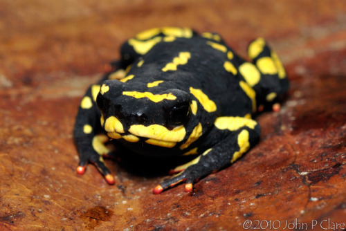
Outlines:
[[[167,112],[168,124],[172,126],[184,124],[190,117],[190,103],[181,102],[171,107]]]

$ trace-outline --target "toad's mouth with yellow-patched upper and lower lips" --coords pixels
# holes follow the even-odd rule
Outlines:
[[[185,138],[186,134],[185,127],[182,125],[169,130],[160,124],[149,126],[133,124],[128,131],[125,131],[120,120],[114,116],[107,118],[104,122],[104,129],[108,136],[113,139],[122,138],[127,142],[138,142],[140,138],[147,138],[145,140],[147,144],[161,147],[174,147],[176,142]]]

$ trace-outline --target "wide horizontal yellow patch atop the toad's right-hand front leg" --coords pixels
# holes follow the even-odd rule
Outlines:
[[[218,117],[214,125],[217,127],[217,129],[220,130],[225,130],[228,129],[230,131],[237,131],[241,127],[249,127],[251,129],[254,129],[256,126],[257,122],[255,120],[251,120],[248,118],[243,118],[243,117],[233,117],[233,116],[222,116]]]

